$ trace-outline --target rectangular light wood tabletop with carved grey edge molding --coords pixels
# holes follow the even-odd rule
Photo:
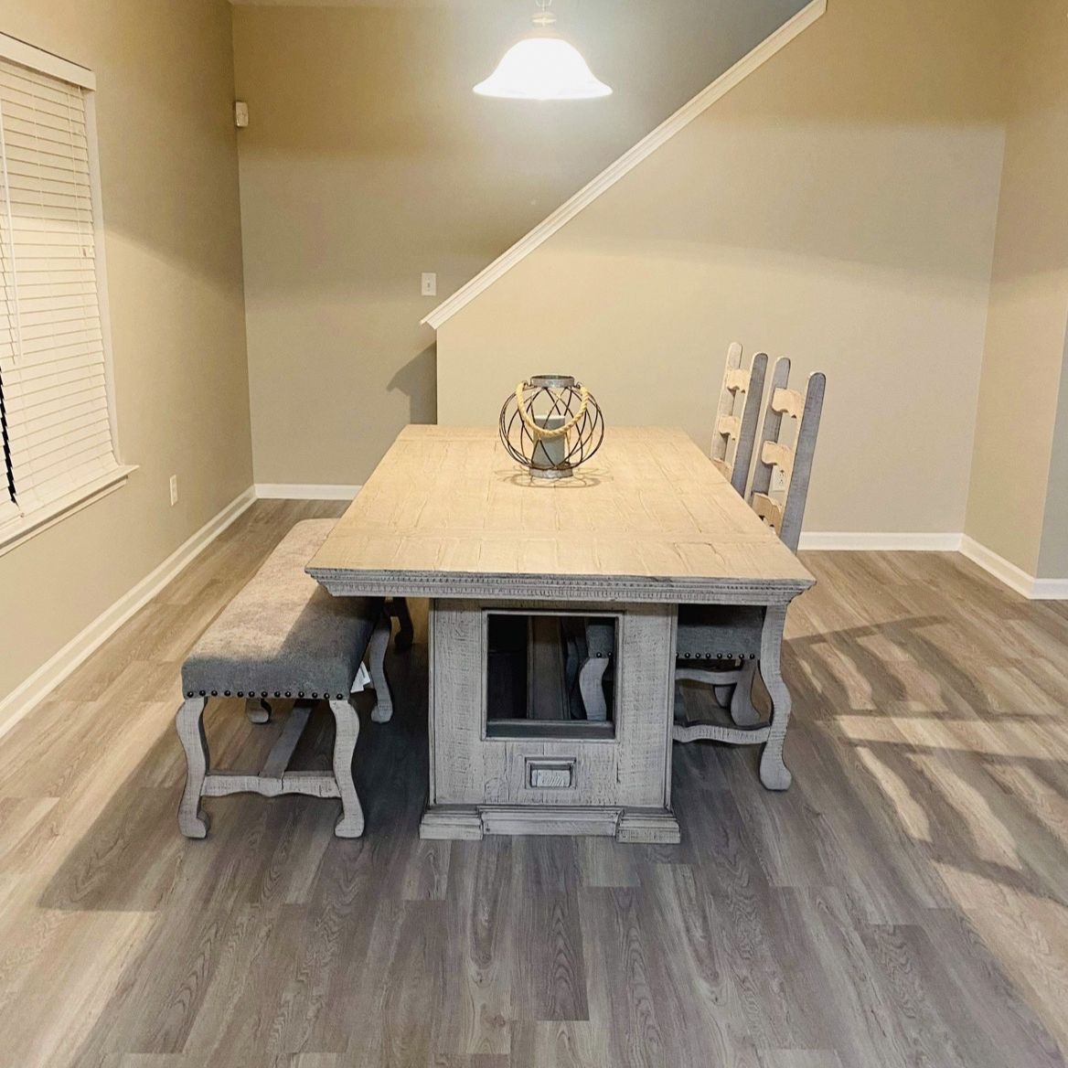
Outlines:
[[[786,603],[813,578],[675,428],[611,427],[556,482],[492,428],[409,426],[309,574],[331,593]]]

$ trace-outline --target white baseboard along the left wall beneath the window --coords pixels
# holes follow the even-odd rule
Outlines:
[[[256,499],[253,487],[230,502],[192,537],[184,541],[158,567],[150,571],[76,634],[53,657],[0,701],[0,737],[31,708],[48,696],[90,654],[95,653],[135,612],[159,593],[187,564],[211,544]]]

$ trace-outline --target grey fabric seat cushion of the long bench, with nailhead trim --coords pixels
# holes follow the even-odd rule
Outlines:
[[[183,665],[187,697],[348,696],[382,602],[332,597],[304,572],[334,522],[297,523],[222,610]]]

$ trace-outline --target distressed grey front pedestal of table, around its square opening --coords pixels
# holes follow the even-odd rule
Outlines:
[[[486,670],[488,618],[498,613],[613,619],[619,655],[608,722],[515,720],[506,734],[494,734],[489,721],[500,710],[487,708]],[[433,601],[430,782],[421,836],[678,842],[671,810],[676,626],[671,604]],[[594,734],[575,729],[586,726]],[[546,764],[566,768],[565,781],[535,784],[531,768]]]

